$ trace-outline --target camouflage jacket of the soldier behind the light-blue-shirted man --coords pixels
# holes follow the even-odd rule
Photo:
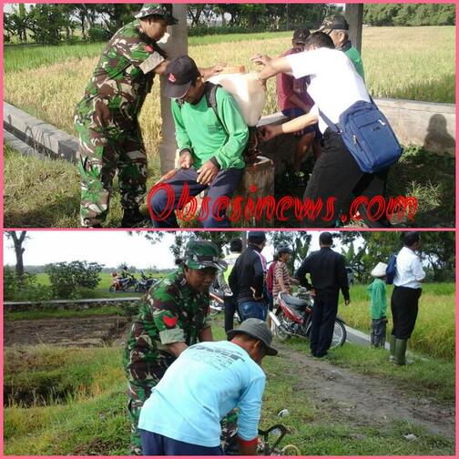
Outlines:
[[[179,268],[145,296],[128,335],[125,363],[155,361],[173,342],[195,344],[199,332],[210,326],[208,318],[209,293],[194,291]]]

